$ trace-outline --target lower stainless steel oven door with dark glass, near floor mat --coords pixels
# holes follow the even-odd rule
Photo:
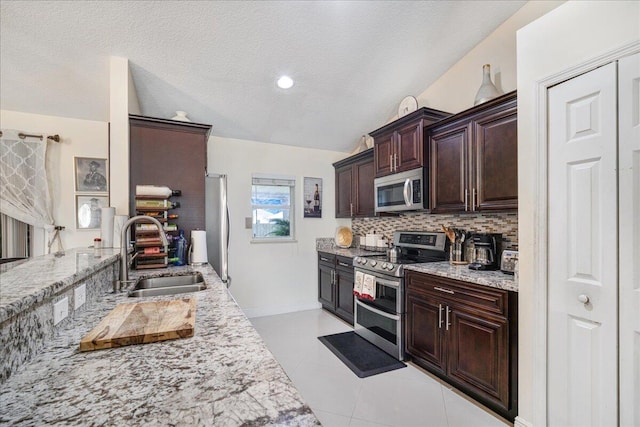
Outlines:
[[[354,331],[398,360],[404,360],[402,316],[378,310],[356,298]]]

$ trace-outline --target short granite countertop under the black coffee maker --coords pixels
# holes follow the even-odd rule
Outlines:
[[[426,264],[410,264],[404,266],[406,270],[432,274],[434,276],[448,277],[464,282],[489,286],[497,289],[518,292],[518,283],[513,275],[505,274],[500,270],[477,271],[470,270],[468,265],[452,265],[448,261],[432,262]]]

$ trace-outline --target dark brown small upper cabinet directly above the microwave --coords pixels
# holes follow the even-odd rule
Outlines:
[[[371,132],[374,139],[375,176],[424,166],[424,127],[450,116],[422,107]]]

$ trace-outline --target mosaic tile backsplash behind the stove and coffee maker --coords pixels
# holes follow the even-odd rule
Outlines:
[[[394,231],[401,230],[442,231],[441,224],[477,233],[500,233],[502,249],[516,249],[518,246],[517,212],[450,215],[412,212],[393,217],[354,218],[351,228],[354,236],[375,231],[390,238]]]

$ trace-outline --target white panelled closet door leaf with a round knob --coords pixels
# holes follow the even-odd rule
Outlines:
[[[549,89],[548,423],[618,421],[616,64]]]

